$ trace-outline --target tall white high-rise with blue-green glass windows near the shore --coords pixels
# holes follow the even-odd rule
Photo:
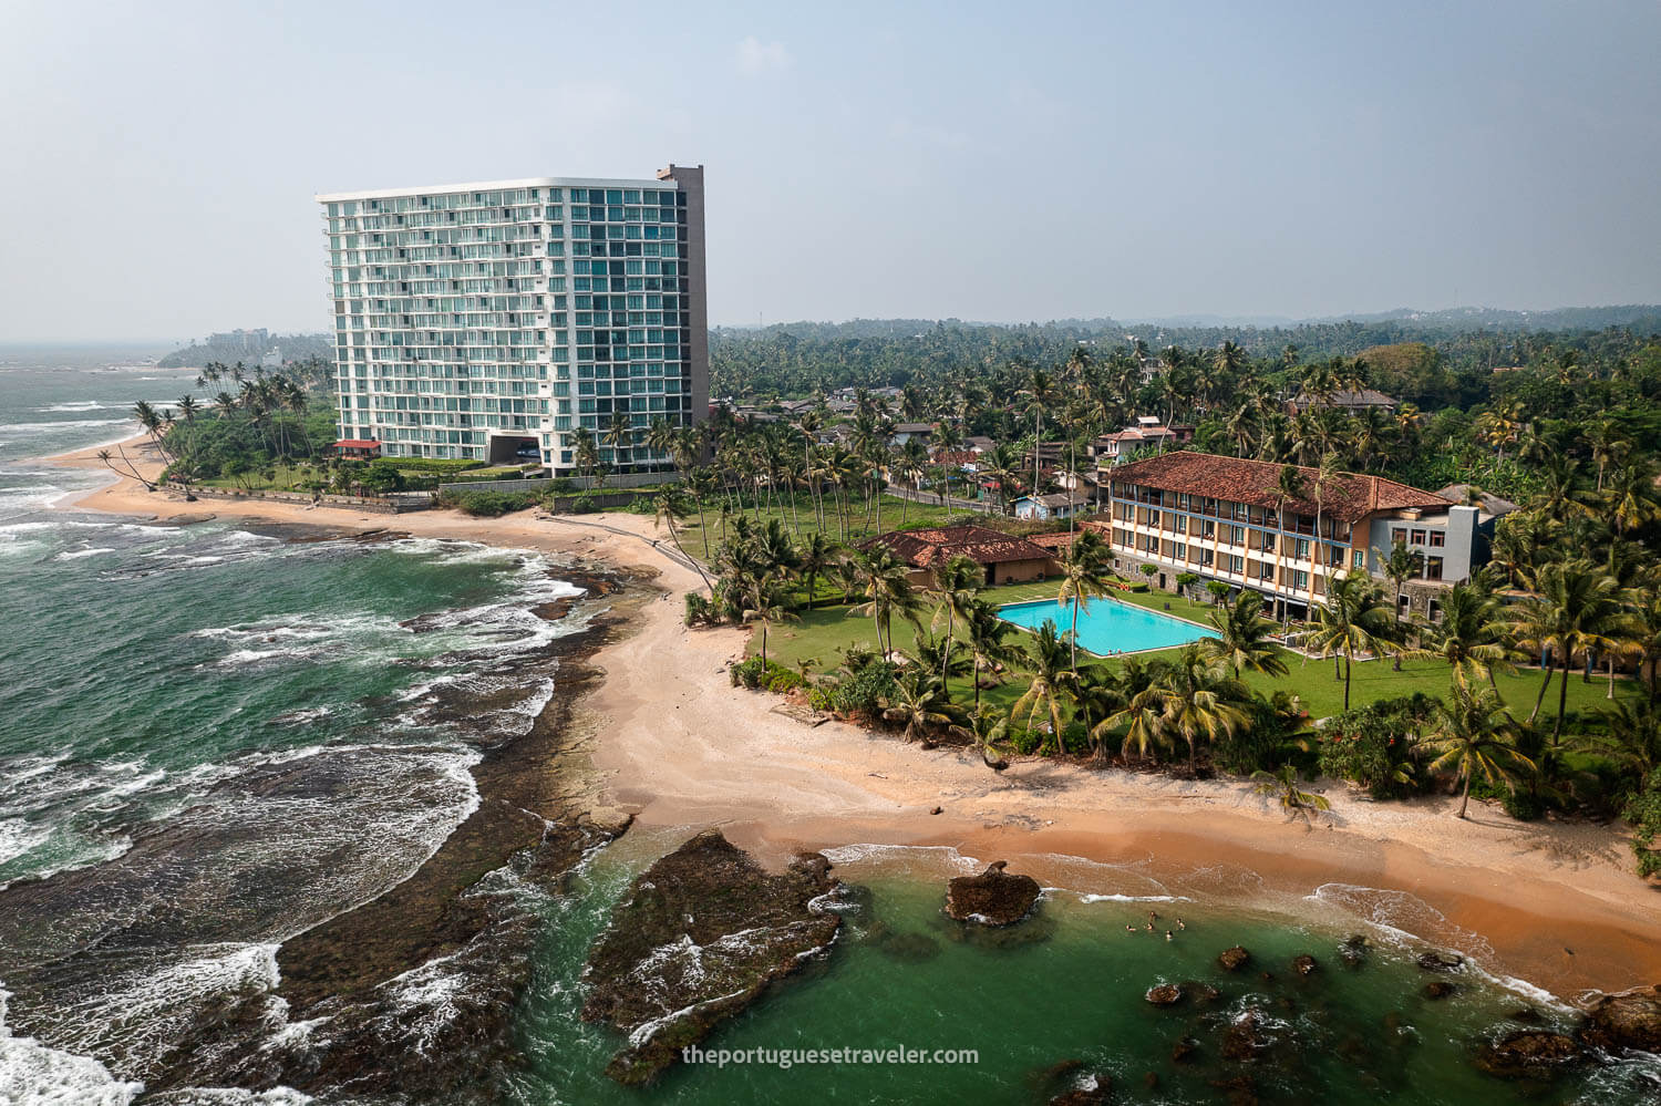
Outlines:
[[[342,438],[556,475],[651,472],[671,465],[651,423],[709,414],[703,166],[317,203]]]

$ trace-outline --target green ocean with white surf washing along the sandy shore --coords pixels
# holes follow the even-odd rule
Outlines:
[[[48,511],[101,475],[33,458],[126,437],[133,400],[176,399],[194,375],[140,362],[0,355],[0,1103],[1020,1104],[1068,1073],[1136,1103],[1227,1101],[1242,1076],[1266,1103],[1619,1103],[1661,1086],[1644,1060],[1550,1088],[1478,1073],[1483,1040],[1566,1025],[1568,1008],[1487,971],[1480,937],[1400,893],[1274,900],[1226,865],[1156,878],[1051,859],[1065,878],[1023,923],[1031,940],[992,947],[940,912],[943,880],[990,857],[854,842],[829,855],[867,892],[830,955],[708,1045],[975,1061],[703,1064],[615,1086],[618,1035],[576,1016],[583,960],[630,880],[691,829],[561,837],[532,799],[502,799],[537,785],[543,751],[563,756],[550,704],[580,679],[566,646],[613,596],[591,566],[327,518]],[[1149,910],[1186,928],[1126,932]],[[1369,942],[1355,968],[1350,935]],[[1222,973],[1236,943],[1254,963]],[[1472,957],[1450,998],[1423,995],[1428,947]],[[1301,953],[1320,971],[1292,971]],[[1143,998],[1189,980],[1221,993]],[[1246,1011],[1266,1050],[1222,1060]]]

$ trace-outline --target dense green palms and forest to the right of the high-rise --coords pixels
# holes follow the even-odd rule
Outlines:
[[[711,595],[691,596],[688,618],[756,624],[757,663],[741,679],[786,688],[797,681],[774,671],[769,631],[801,618],[829,580],[850,616],[870,619],[875,648],[844,649],[821,676],[796,673],[816,706],[912,737],[973,741],[988,762],[1043,752],[1261,772],[1289,809],[1306,810],[1296,774],[1325,771],[1380,797],[1457,787],[1467,802],[1502,799],[1518,817],[1624,814],[1638,827],[1639,867],[1661,870],[1661,342],[1621,329],[1418,332],[1433,340],[1379,344],[1414,337],[1399,322],[1299,334],[1357,349],[1311,357],[1224,339],[1154,355],[1118,339],[1103,354],[1065,325],[723,335],[724,382],[746,380],[752,399],[847,384],[900,394],[890,409],[859,387],[840,418],[822,405],[791,422],[716,412],[683,450],[713,450],[716,463],[688,463],[693,497],[663,507],[671,535],[694,508],[724,513]],[[1360,387],[1404,404],[1385,415],[1327,402]],[[1294,412],[1294,395],[1319,402]],[[1357,575],[1307,624],[1272,623],[1241,596],[1216,613],[1219,644],[1121,663],[1081,658],[1066,626],[1010,638],[973,566],[938,566],[919,590],[884,550],[849,545],[890,480],[930,497],[947,490],[950,467],[915,438],[894,445],[897,420],[935,423],[932,442],[947,450],[968,435],[995,438],[978,477],[1007,500],[1031,478],[1023,455],[1035,440],[1060,443],[1070,468],[1098,433],[1138,414],[1191,422],[1194,448],[1306,465],[1317,485],[1342,470],[1430,488],[1468,483],[1521,510],[1500,521],[1493,563],[1443,593],[1437,623],[1399,619],[1384,583]],[[844,432],[826,440],[839,422]],[[1065,576],[1081,596],[1115,583],[1091,536],[1073,543]],[[902,634],[909,648],[895,644],[897,621],[914,623]],[[1266,696],[1244,679],[1291,656],[1271,634],[1332,659],[1344,709],[1322,726],[1286,692]],[[1435,658],[1440,694],[1350,709],[1352,666],[1392,656]],[[1608,711],[1568,709],[1571,679],[1590,689],[1595,669]],[[1533,694],[1516,696],[1530,671]],[[1636,697],[1616,694],[1619,673],[1636,673]],[[1002,679],[1025,684],[1007,707],[982,696]]]

